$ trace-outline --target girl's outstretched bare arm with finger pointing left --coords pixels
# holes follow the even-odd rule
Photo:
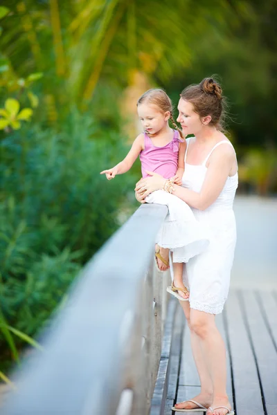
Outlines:
[[[103,170],[100,172],[100,174],[105,174],[108,180],[111,180],[111,178],[114,178],[116,174],[124,174],[128,172],[128,170],[132,167],[134,162],[136,161],[136,158],[139,156],[141,151],[143,150],[144,145],[144,136],[143,134],[140,134],[136,137],[136,140],[134,140],[132,147],[127,154],[127,156],[124,158],[124,160],[120,161],[116,166],[112,167],[109,170]]]

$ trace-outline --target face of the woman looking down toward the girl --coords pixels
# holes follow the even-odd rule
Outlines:
[[[203,124],[199,115],[194,111],[193,104],[180,98],[178,104],[179,116],[177,121],[181,124],[183,133],[197,135],[201,131]]]

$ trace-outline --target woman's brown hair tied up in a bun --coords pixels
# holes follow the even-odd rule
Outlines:
[[[181,92],[181,98],[193,104],[200,117],[211,116],[210,125],[224,130],[226,98],[215,77],[206,77],[199,84],[189,85]]]

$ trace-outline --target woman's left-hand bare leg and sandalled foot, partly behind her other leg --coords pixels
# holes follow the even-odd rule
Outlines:
[[[192,399],[196,400],[198,403],[201,403],[201,405],[203,405],[204,407],[209,407],[211,406],[213,400],[213,385],[211,376],[208,371],[208,366],[204,358],[201,341],[199,340],[196,333],[193,332],[192,327],[190,325],[190,311],[193,310],[190,309],[190,304],[188,304],[188,302],[180,301],[179,303],[181,304],[181,307],[184,310],[188,327],[190,329],[190,340],[191,347],[193,349],[193,358],[195,360],[195,365],[197,367],[201,385],[200,393],[197,396],[192,397]],[[197,407],[192,402],[179,403],[175,406],[179,409],[195,409]]]

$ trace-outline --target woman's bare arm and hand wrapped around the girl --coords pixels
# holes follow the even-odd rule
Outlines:
[[[229,176],[234,161],[234,151],[229,146],[222,146],[218,151],[214,151],[208,165],[206,177],[199,193],[184,187],[174,185],[175,190],[172,194],[178,196],[192,208],[205,210],[220,195],[224,184]],[[150,172],[148,172],[150,174]],[[163,189],[166,179],[158,174],[152,177],[143,178],[136,185],[136,192],[143,194],[143,199],[154,190]]]

